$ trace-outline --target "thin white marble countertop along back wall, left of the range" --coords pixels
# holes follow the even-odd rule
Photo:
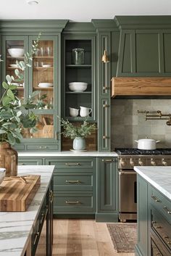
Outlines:
[[[117,157],[116,152],[97,152],[97,151],[87,151],[87,152],[72,152],[72,151],[27,151],[18,152],[19,157]]]

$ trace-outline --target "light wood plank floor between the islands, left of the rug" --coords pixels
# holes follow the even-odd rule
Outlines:
[[[114,253],[105,223],[54,220],[53,256],[134,256],[134,253]]]

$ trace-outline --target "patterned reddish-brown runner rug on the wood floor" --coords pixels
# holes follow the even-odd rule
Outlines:
[[[115,252],[134,252],[137,239],[137,223],[107,224]]]

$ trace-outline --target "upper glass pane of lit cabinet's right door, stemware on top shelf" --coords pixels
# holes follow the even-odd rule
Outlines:
[[[40,109],[54,108],[54,41],[38,42],[33,56],[33,91],[40,91],[37,96],[43,102]]]

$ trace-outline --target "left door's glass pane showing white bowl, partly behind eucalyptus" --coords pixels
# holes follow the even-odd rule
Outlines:
[[[24,86],[25,81],[24,77],[22,80],[18,80],[17,76],[14,73],[17,67],[17,62],[20,62],[24,59],[24,41],[23,40],[7,40],[6,41],[6,75],[13,75],[14,82],[13,84],[17,86],[16,96],[18,98],[24,97]],[[19,69],[20,70],[20,69]],[[24,72],[20,70],[20,73],[24,75]]]

